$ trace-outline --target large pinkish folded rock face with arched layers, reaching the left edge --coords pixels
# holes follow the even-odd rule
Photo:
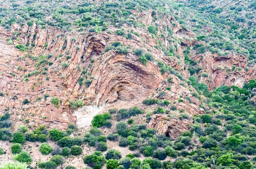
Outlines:
[[[148,62],[145,66],[132,52],[136,48],[147,51],[156,45],[150,34],[143,35],[148,39],[145,45],[135,36],[129,40],[105,33],[71,34],[52,27],[39,29],[35,24],[23,28],[13,25],[12,31],[0,29],[0,91],[5,93],[0,97],[0,107],[2,110],[12,108],[13,115],[21,115],[17,120],[28,118],[30,125],[51,124],[50,127],[66,128],[69,123],[76,122],[70,109],[71,100],[81,99],[85,105],[100,106],[118,99],[140,99],[152,93],[167,76],[160,73],[157,62]],[[11,39],[18,32],[19,41],[7,44],[5,39]],[[116,41],[128,44],[129,53],[119,54],[114,50],[102,53]],[[30,43],[35,47],[29,53],[15,48],[15,45]],[[150,53],[155,59],[180,70],[174,60],[159,50],[152,48]],[[47,59],[41,59],[42,56]],[[67,66],[62,66],[63,62]],[[80,86],[81,78],[83,82],[88,79],[89,84]],[[55,97],[59,100],[58,106],[51,103]],[[23,105],[24,99],[30,103]]]

